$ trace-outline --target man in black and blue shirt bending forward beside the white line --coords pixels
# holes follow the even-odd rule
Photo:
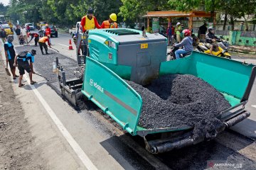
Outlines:
[[[33,62],[35,61],[34,59],[35,55],[36,55],[36,50],[31,50],[31,52],[28,52],[28,51],[19,52],[18,55],[15,56],[14,66],[15,67],[18,66],[18,70],[20,74],[18,78],[18,87],[25,85],[21,83],[23,74],[25,74],[25,70],[29,74],[29,79],[31,81],[31,84],[36,83],[36,81],[32,80]]]

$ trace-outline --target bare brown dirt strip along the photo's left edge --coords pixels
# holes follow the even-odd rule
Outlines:
[[[1,58],[1,57],[0,57]],[[46,169],[0,60],[0,169]]]

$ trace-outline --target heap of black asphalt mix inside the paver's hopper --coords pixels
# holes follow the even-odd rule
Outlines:
[[[127,81],[142,96],[139,126],[146,129],[191,126],[193,138],[214,134],[223,126],[217,118],[230,108],[213,86],[188,74],[169,74],[148,86]]]

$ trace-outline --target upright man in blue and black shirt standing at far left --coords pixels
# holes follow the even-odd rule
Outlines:
[[[12,42],[14,41],[14,35],[8,35],[7,36],[7,42],[4,43],[4,52],[5,52],[5,56],[6,56],[6,73],[11,76],[11,74],[13,75],[13,79],[16,79],[16,77],[18,77],[15,74],[16,68],[14,67],[14,58],[15,58],[15,50],[14,50],[14,45],[12,44]],[[11,69],[11,74],[8,70],[8,62],[9,62],[9,66]]]

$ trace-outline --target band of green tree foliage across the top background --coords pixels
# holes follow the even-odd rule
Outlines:
[[[244,18],[255,14],[255,0],[11,0],[9,6],[0,3],[0,13],[21,23],[48,23],[70,26],[85,16],[88,8],[95,9],[99,22],[110,13],[118,13],[118,22],[134,23],[146,11],[203,10],[226,14],[229,18]],[[246,19],[246,18],[245,18]],[[255,17],[256,20],[256,17]]]

